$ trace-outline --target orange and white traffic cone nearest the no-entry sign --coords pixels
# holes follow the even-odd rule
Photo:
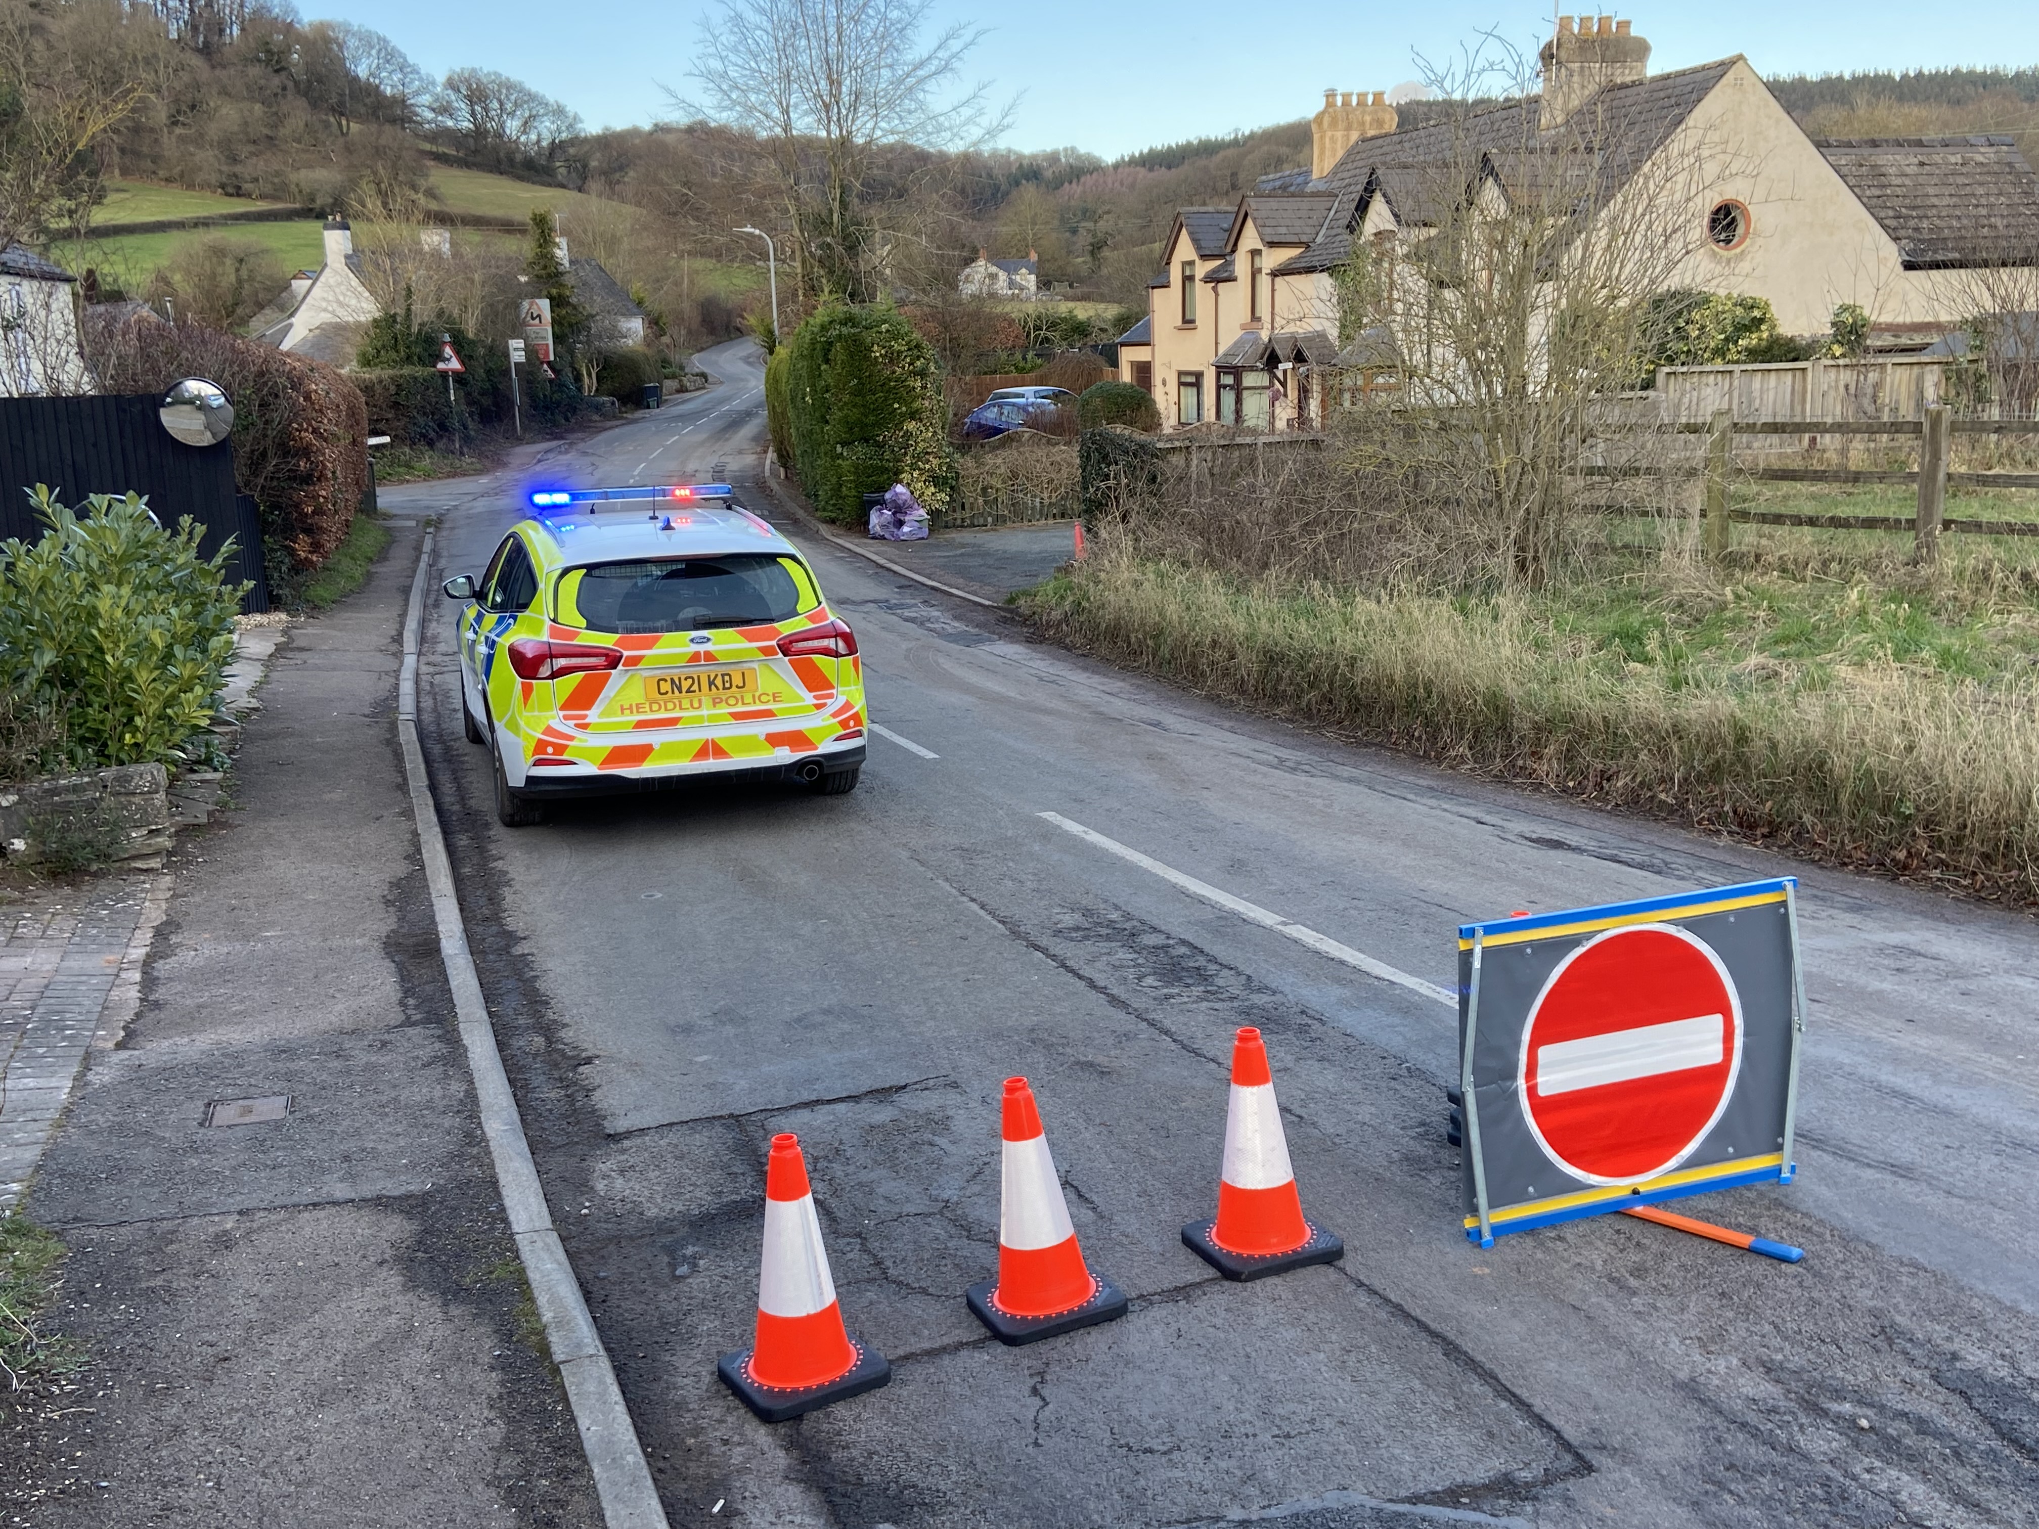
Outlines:
[[[1217,1215],[1183,1227],[1183,1242],[1227,1280],[1334,1264],[1346,1244],[1303,1219],[1289,1166],[1289,1140],[1274,1105],[1274,1074],[1260,1032],[1244,1025],[1232,1042],[1232,1105],[1225,1111],[1225,1166]]]

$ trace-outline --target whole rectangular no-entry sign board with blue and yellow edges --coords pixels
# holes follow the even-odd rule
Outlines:
[[[1790,1180],[1796,881],[1460,930],[1466,1231]]]

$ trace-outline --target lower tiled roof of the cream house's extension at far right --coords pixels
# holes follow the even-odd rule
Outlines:
[[[2039,175],[2012,139],[1829,139],[1817,147],[1906,269],[2039,263]]]

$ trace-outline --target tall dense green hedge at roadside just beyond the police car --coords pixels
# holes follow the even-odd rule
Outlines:
[[[934,349],[891,306],[820,308],[791,340],[787,422],[801,487],[856,522],[865,493],[905,483],[938,514],[956,487]]]

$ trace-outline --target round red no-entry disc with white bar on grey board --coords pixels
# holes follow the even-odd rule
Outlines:
[[[1517,1085],[1541,1148],[1592,1184],[1684,1162],[1727,1109],[1741,999],[1705,940],[1670,924],[1594,936],[1544,983]]]

